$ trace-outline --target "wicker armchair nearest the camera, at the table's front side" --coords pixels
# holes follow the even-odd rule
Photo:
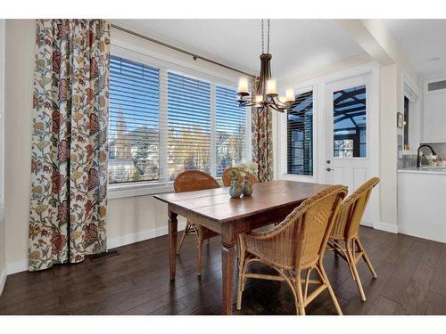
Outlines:
[[[323,257],[335,216],[346,194],[346,187],[330,186],[305,200],[269,231],[239,235],[237,310],[242,307],[246,279],[254,278],[286,281],[293,292],[296,313],[302,315],[305,314],[305,306],[328,289],[337,313],[343,314],[326,276]],[[278,275],[247,273],[253,262],[272,267]],[[318,280],[310,280],[313,270],[318,273]],[[305,273],[304,277],[301,277],[302,273]],[[310,295],[309,284],[317,285]]]

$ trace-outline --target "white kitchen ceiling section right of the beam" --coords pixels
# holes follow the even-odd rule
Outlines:
[[[446,71],[446,20],[383,21],[418,75]]]

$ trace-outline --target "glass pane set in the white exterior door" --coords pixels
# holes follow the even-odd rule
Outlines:
[[[333,94],[333,156],[367,157],[366,86],[355,86]]]

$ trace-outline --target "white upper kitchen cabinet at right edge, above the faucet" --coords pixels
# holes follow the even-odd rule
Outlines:
[[[446,76],[423,84],[422,143],[446,143]]]

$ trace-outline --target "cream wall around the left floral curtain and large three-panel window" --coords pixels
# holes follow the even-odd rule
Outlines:
[[[5,261],[8,273],[27,270],[29,232],[29,184],[32,128],[32,84],[35,54],[35,20],[7,20],[5,77]],[[191,57],[115,30],[123,44],[165,59],[178,60],[183,66],[205,69],[215,76],[233,79],[235,72],[193,61]],[[179,228],[184,224],[180,220]],[[109,200],[107,208],[109,248],[145,240],[167,232],[167,206],[153,196]],[[1,253],[0,253],[1,254]]]

